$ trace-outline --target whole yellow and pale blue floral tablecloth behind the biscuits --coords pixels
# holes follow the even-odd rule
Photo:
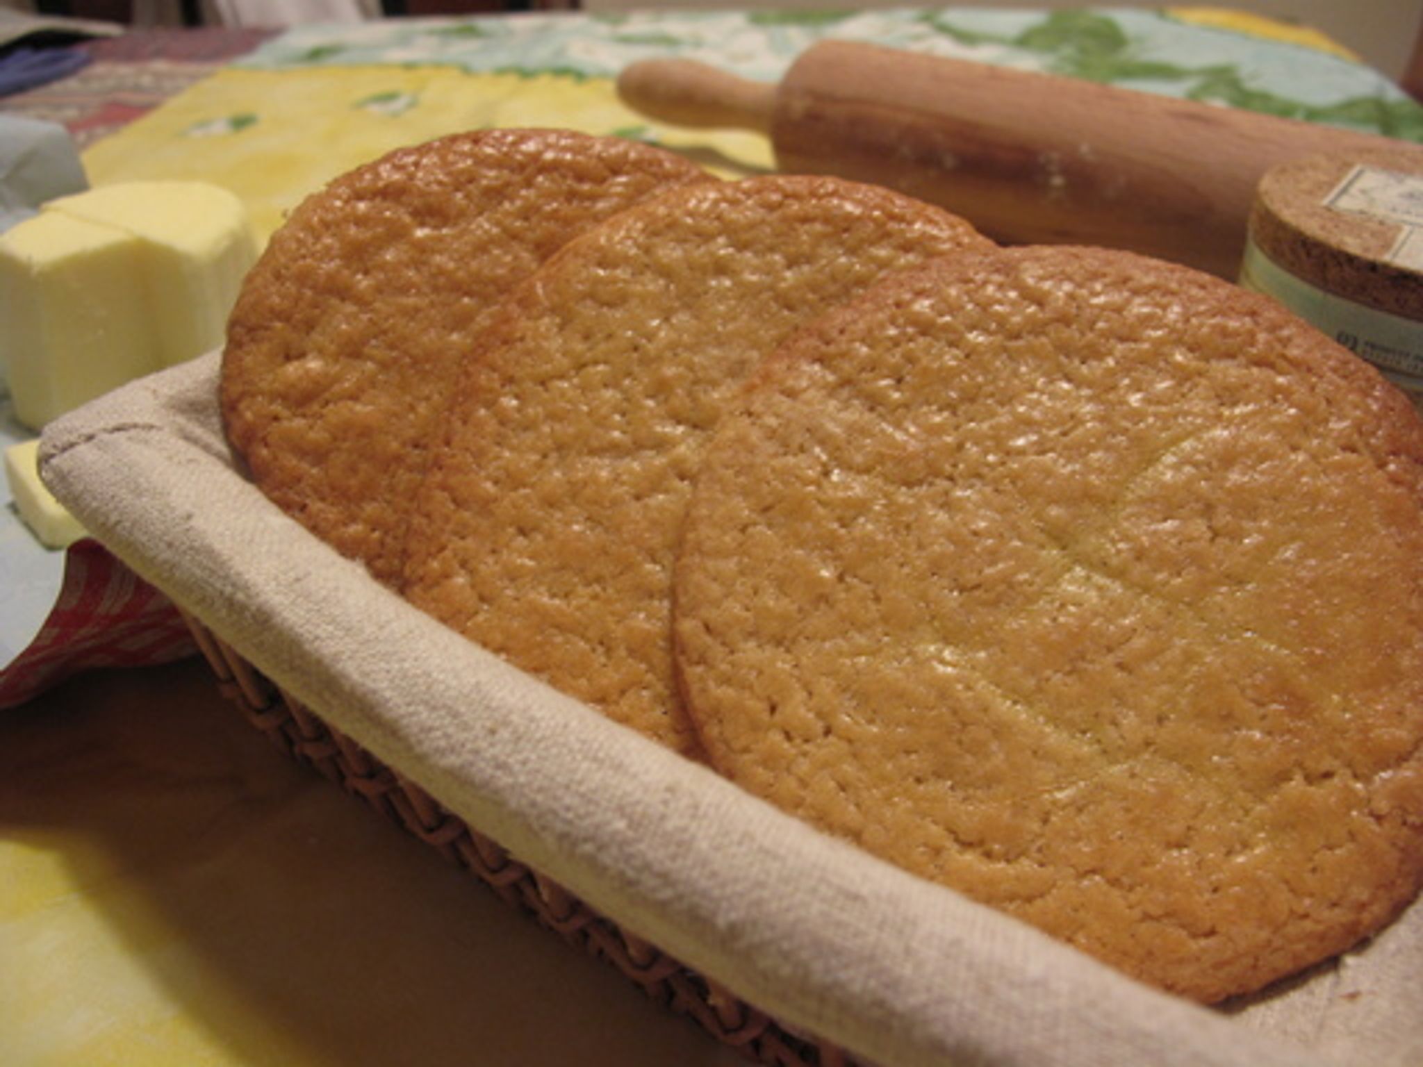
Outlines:
[[[1262,36],[1269,34],[1269,36]],[[875,41],[1423,141],[1423,108],[1326,38],[1215,9],[525,14],[293,28],[85,154],[95,182],[225,184],[270,230],[302,195],[403,144],[561,125],[771,165],[764,138],[662,127],[613,78],[682,55],[777,80],[821,38]]]

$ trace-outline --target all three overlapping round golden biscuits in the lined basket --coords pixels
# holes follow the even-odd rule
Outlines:
[[[1423,424],[1224,282],[470,134],[293,215],[222,401],[417,606],[1146,982],[1259,989],[1423,883]]]

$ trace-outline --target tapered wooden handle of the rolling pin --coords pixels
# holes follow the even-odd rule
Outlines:
[[[683,127],[770,134],[776,85],[748,81],[694,60],[642,60],[618,77],[622,101],[649,118]]]

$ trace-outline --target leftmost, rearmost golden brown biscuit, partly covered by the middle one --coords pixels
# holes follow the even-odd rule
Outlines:
[[[504,293],[591,225],[703,181],[670,152],[555,129],[458,134],[337,178],[232,312],[232,447],[277,505],[394,583],[428,437]]]

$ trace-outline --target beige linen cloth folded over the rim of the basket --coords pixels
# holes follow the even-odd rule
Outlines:
[[[599,912],[871,1063],[1423,1063],[1423,908],[1232,1010],[831,841],[445,630],[233,471],[216,354],[53,424],[43,474],[240,654]]]

